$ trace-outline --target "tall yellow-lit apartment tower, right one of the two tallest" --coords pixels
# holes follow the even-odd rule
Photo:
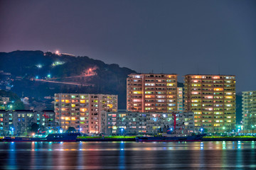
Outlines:
[[[188,74],[184,110],[195,113],[195,128],[230,132],[235,128],[235,76]]]

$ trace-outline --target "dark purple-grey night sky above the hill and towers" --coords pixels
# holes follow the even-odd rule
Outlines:
[[[66,52],[137,72],[235,74],[256,90],[256,1],[0,1],[0,51]]]

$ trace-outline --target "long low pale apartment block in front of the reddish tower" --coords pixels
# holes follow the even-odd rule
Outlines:
[[[156,135],[160,128],[169,126],[183,133],[194,131],[194,114],[191,113],[134,113],[102,112],[102,133],[105,135]]]

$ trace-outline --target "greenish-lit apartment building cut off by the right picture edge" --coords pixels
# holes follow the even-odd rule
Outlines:
[[[242,91],[242,124],[250,132],[256,128],[256,91]]]

